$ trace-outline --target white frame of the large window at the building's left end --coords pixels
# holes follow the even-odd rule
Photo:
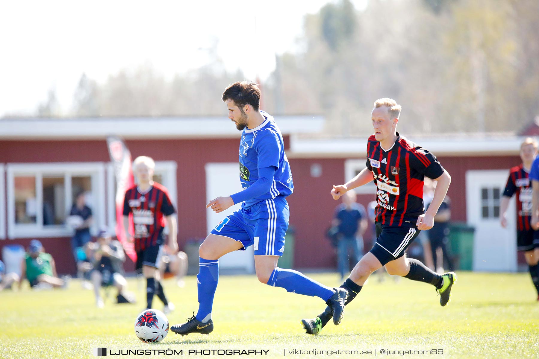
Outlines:
[[[63,175],[66,194],[71,193],[71,177],[87,175],[91,178],[92,186],[92,213],[94,223],[90,230],[96,233],[97,229],[105,224],[105,164],[102,162],[58,162],[58,163],[9,163],[6,166],[8,189],[8,237],[71,237],[73,229],[63,224],[57,226],[43,226],[43,175]],[[15,177],[36,177],[37,214],[35,224],[15,223]],[[73,200],[71,195],[65,196],[66,211],[71,209]]]

